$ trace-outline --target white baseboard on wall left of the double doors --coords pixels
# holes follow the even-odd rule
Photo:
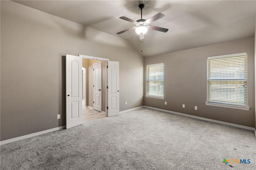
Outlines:
[[[45,133],[49,133],[49,132],[54,132],[54,131],[57,131],[57,130],[61,130],[63,128],[66,128],[66,126],[51,128],[51,129],[48,129],[48,130],[43,130],[43,131],[40,131],[40,132],[31,133],[31,134],[27,134],[27,135],[24,135],[24,136],[19,136],[19,137],[16,137],[16,138],[3,140],[3,141],[0,142],[0,145],[8,144],[8,143],[11,143],[11,142],[16,142],[18,140],[31,138],[31,137],[38,136],[38,135],[45,134]]]

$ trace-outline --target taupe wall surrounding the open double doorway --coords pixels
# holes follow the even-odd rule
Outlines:
[[[126,40],[12,1],[0,12],[1,140],[66,124],[66,54],[119,61],[120,111],[142,106],[143,58]]]

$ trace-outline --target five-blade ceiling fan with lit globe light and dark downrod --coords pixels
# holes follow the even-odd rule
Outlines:
[[[156,30],[156,31],[160,31],[160,32],[167,32],[168,31],[168,29],[166,29],[166,28],[161,28],[161,27],[157,27],[157,26],[148,25],[148,24],[150,24],[150,23],[152,23],[156,20],[159,20],[160,18],[163,18],[164,14],[158,13],[158,14],[152,16],[151,18],[149,18],[148,20],[144,20],[144,19],[142,19],[142,10],[144,8],[144,4],[139,4],[139,8],[141,10],[141,19],[140,20],[134,21],[134,20],[132,20],[130,18],[127,18],[125,16],[120,17],[120,19],[131,22],[131,23],[135,24],[136,26],[132,27],[132,28],[128,28],[128,29],[123,30],[121,32],[118,32],[116,34],[122,34],[124,32],[135,29],[135,32],[140,35],[140,40],[142,40],[142,39],[144,39],[144,34],[148,31],[148,29]]]

